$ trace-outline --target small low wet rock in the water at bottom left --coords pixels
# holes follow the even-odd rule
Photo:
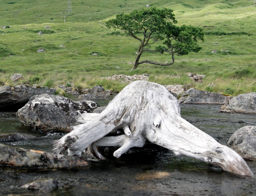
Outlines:
[[[40,192],[51,192],[59,188],[59,182],[53,179],[39,179],[34,182],[20,186],[21,189],[38,190]]]

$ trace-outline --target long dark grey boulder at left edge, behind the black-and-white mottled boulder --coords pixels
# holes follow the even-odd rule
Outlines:
[[[0,108],[20,106],[25,104],[34,95],[54,94],[55,88],[34,85],[2,86],[0,87]]]

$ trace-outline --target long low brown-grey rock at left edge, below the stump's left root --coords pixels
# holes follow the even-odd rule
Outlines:
[[[76,156],[65,156],[39,150],[26,150],[0,144],[0,164],[18,168],[54,169],[87,166],[88,163]]]

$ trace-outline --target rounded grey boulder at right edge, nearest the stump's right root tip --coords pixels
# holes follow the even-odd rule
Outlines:
[[[256,126],[242,127],[229,138],[228,147],[242,158],[256,160]]]

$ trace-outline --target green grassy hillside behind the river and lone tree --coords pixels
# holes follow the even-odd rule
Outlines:
[[[0,26],[10,28],[0,29],[0,83],[11,83],[8,75],[22,73],[25,76],[22,83],[52,80],[57,85],[69,81],[84,87],[101,84],[120,91],[127,84],[101,77],[148,73],[152,74],[150,81],[160,84],[189,84],[192,80],[186,73],[192,72],[206,75],[203,83],[196,84],[202,90],[232,95],[256,92],[256,6],[253,3],[249,0],[74,0],[72,13],[68,15],[66,1],[1,0]],[[199,43],[203,49],[176,56],[171,66],[143,64],[130,71],[138,41],[104,24],[119,12],[140,9],[147,4],[172,8],[178,25],[203,27],[205,42]],[[46,30],[46,25],[52,28]],[[44,36],[37,35],[39,31]],[[44,48],[45,52],[37,53],[38,48]],[[218,52],[213,54],[213,49]],[[144,52],[141,60],[146,59],[169,62],[171,56]],[[181,78],[171,78],[173,74]],[[216,85],[209,88],[209,83]]]

